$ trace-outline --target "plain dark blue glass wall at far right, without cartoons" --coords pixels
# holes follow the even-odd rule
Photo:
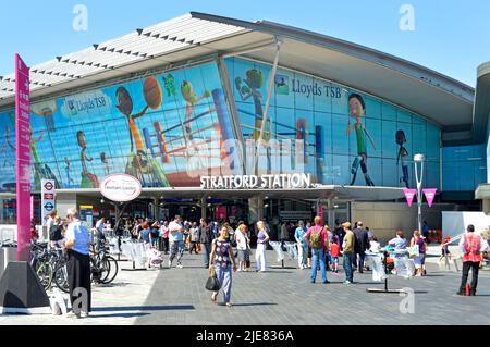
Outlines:
[[[443,188],[448,191],[475,191],[487,182],[486,145],[444,147]]]

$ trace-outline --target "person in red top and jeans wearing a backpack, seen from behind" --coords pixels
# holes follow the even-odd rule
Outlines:
[[[326,252],[329,251],[329,239],[327,235],[327,228],[321,225],[321,218],[316,216],[315,220],[315,226],[310,227],[306,235],[303,237],[304,240],[309,243],[309,246],[311,247],[311,255],[313,255],[313,264],[311,264],[311,283],[315,283],[317,278],[317,268],[318,262],[320,262],[320,270],[321,270],[321,278],[323,281],[323,284],[329,283],[327,280],[327,269],[324,264],[324,258]]]

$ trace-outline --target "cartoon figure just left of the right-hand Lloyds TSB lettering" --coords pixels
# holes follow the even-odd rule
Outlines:
[[[235,78],[235,86],[240,92],[242,101],[248,100],[250,97],[254,99],[255,106],[255,132],[254,139],[258,139],[260,136],[260,129],[262,127],[264,110],[262,110],[262,95],[259,89],[264,86],[264,75],[260,70],[248,70],[247,78],[244,80],[245,86],[242,86],[242,78]],[[269,124],[270,125],[270,124]],[[264,133],[264,139],[268,140],[270,136],[270,127]]]

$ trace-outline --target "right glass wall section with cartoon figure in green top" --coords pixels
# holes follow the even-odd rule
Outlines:
[[[237,58],[228,59],[226,66],[243,136],[257,139],[271,66]],[[322,184],[414,187],[412,159],[424,153],[425,186],[440,188],[438,126],[322,78],[279,69],[264,131],[270,144],[304,139],[304,147],[292,147],[293,157],[303,152],[305,171]],[[281,164],[281,171],[297,171],[297,164]],[[273,163],[261,160],[259,171],[274,172]]]

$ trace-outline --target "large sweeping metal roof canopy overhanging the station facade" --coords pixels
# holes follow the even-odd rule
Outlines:
[[[32,98],[54,97],[131,73],[237,51],[333,80],[406,108],[442,127],[470,126],[475,90],[453,78],[359,45],[271,22],[192,12],[32,67]],[[13,74],[0,77],[0,108],[14,103]]]

